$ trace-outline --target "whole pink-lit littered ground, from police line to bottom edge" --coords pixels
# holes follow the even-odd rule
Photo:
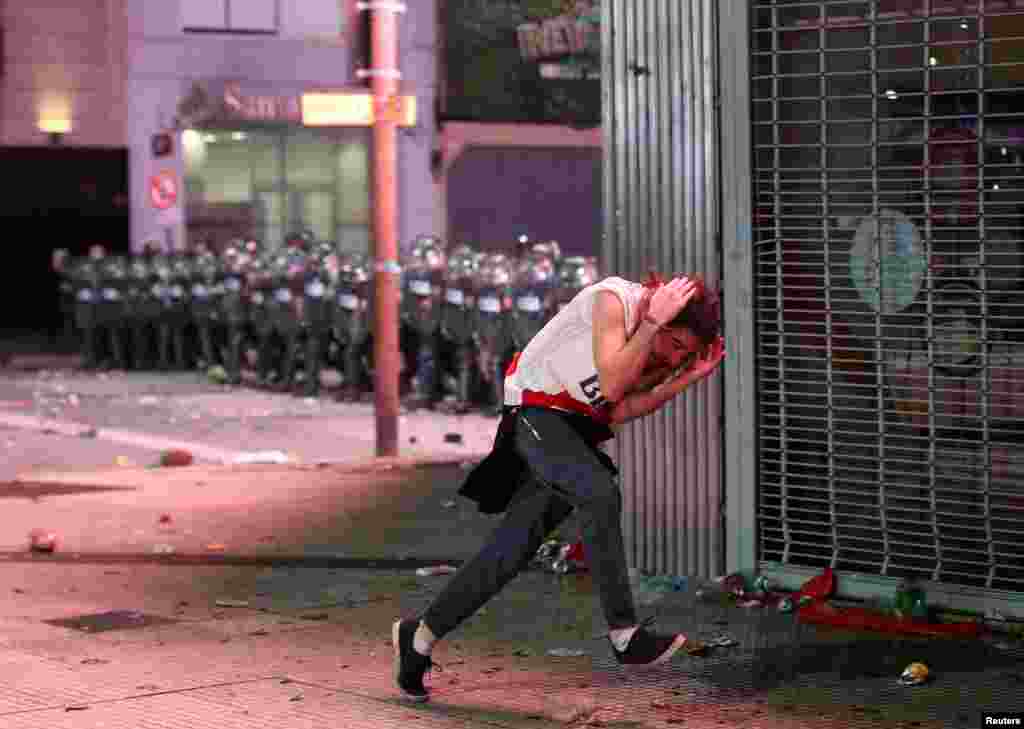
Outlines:
[[[28,389],[36,408],[37,386],[0,383],[0,399]],[[13,421],[4,433],[14,441],[8,454],[49,444],[65,467],[44,463],[0,488],[0,729],[930,729],[976,727],[981,709],[1024,711],[1019,644],[828,632],[792,614],[698,602],[693,581],[654,595],[641,615],[737,645],[627,673],[603,639],[590,578],[541,571],[440,643],[431,702],[403,704],[391,684],[390,624],[422,610],[446,581],[419,577],[415,566],[468,558],[498,520],[456,496],[475,446],[447,444],[437,465],[421,454],[382,462],[355,445],[345,462],[317,463],[316,448],[356,443],[359,433],[313,434],[332,419],[347,422],[338,426],[346,433],[364,428],[352,425],[360,416],[287,396],[197,391],[187,380],[74,387],[78,404],[67,404],[66,385],[54,393],[65,404],[46,417],[67,425],[77,411],[96,437]],[[158,399],[139,402],[148,397]],[[247,415],[261,408],[272,413]],[[166,422],[195,413],[187,428]],[[103,430],[129,420],[146,437],[179,427],[208,447],[244,451],[225,435],[243,417],[267,429],[252,432],[298,433],[287,444],[305,456],[287,465],[108,465],[127,444],[104,441]],[[479,427],[489,445],[482,419]],[[140,459],[156,454],[136,447]],[[85,457],[90,468],[73,468]],[[27,551],[36,527],[57,534],[53,555]],[[121,625],[98,628],[112,630],[47,623],[110,611],[122,611],[108,616]],[[897,683],[912,660],[930,666],[930,684]]]

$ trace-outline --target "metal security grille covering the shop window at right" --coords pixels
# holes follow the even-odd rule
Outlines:
[[[1024,591],[1024,0],[751,0],[762,560]]]

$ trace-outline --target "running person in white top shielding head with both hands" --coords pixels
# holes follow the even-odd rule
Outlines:
[[[490,541],[419,617],[392,627],[395,681],[413,701],[435,642],[529,564],[573,509],[620,663],[668,661],[702,646],[638,623],[626,566],[617,471],[598,446],[611,426],[655,412],[722,362],[717,292],[699,278],[646,284],[608,277],[584,289],[513,359],[495,446],[460,494],[483,513],[505,512]]]

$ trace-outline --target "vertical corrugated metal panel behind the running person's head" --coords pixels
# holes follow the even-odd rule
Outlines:
[[[719,0],[602,7],[602,269],[721,278],[715,44]],[[614,439],[631,564],[720,574],[721,379],[715,375]]]

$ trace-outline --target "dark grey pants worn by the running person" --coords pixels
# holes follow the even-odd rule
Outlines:
[[[529,564],[544,538],[575,508],[583,517],[587,561],[608,628],[635,626],[622,492],[614,474],[556,411],[519,411],[515,447],[529,477],[490,541],[452,576],[423,621],[438,638],[450,633]]]

